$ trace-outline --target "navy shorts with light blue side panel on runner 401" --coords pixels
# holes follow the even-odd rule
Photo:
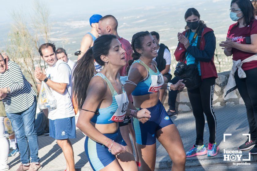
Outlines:
[[[149,121],[143,124],[134,118],[132,122],[136,134],[136,143],[141,145],[155,144],[156,131],[173,124],[160,100],[155,106],[147,109],[151,112]]]

